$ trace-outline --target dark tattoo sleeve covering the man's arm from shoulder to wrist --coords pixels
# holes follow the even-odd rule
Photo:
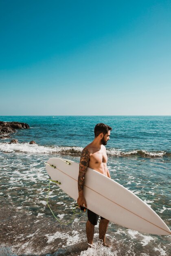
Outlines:
[[[81,157],[80,157],[80,163],[79,163],[79,176],[78,176],[78,191],[80,192],[83,190],[84,187],[84,177],[85,173],[87,171],[88,162],[90,159],[90,152],[87,148],[84,148]]]

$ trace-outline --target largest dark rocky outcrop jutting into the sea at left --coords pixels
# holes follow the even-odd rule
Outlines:
[[[6,135],[9,133],[14,133],[16,132],[15,129],[29,129],[30,126],[25,123],[20,123],[20,122],[2,122],[0,121],[0,135]]]

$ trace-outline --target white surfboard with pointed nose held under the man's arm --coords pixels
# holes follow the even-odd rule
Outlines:
[[[79,163],[50,158],[46,163],[50,179],[71,198],[78,198]],[[88,168],[84,196],[90,211],[128,229],[156,235],[171,235],[171,230],[158,214],[138,196],[118,182]]]

